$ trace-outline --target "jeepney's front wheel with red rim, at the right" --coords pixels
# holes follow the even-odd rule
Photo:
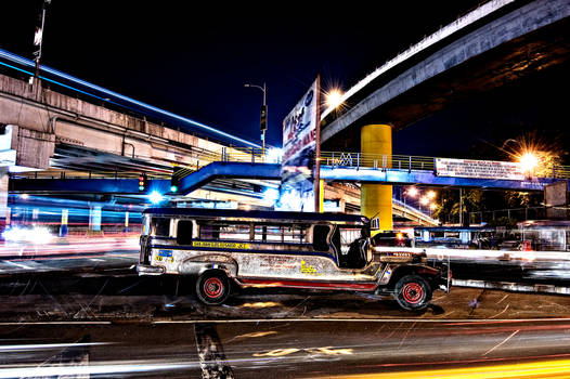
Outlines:
[[[396,284],[393,297],[402,309],[422,311],[431,301],[431,287],[422,276],[405,275]]]

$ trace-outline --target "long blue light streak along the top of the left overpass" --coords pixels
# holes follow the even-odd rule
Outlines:
[[[25,66],[25,67],[35,67],[35,63],[34,61],[31,60],[27,60],[25,57],[22,57],[20,55],[16,55],[16,54],[13,54],[9,51],[5,51],[3,49],[0,49],[0,57],[1,58],[4,58],[4,60],[9,60],[11,62],[15,62],[22,66]],[[10,68],[14,68],[14,69],[17,69],[20,71],[23,71],[23,73],[26,73],[28,75],[34,75],[31,73],[28,73],[24,69],[21,69],[21,68],[17,68],[15,66],[12,66],[12,65],[8,65],[5,63],[2,63],[0,62],[0,64],[4,65],[4,66],[8,66]],[[55,76],[56,78],[59,79],[65,79],[65,80],[69,80],[70,82],[73,83],[76,83],[76,84],[80,84],[80,86],[83,86],[86,88],[89,88],[89,89],[92,89],[92,90],[95,90],[98,92],[101,92],[101,93],[104,93],[105,95],[108,95],[108,96],[113,96],[115,99],[118,99],[118,100],[121,100],[128,104],[132,104],[132,105],[137,105],[141,108],[144,108],[146,110],[151,110],[151,112],[154,112],[154,113],[157,113],[157,114],[160,114],[163,116],[167,116],[167,117],[170,117],[170,118],[173,118],[176,120],[179,120],[179,121],[182,121],[184,123],[187,123],[187,125],[191,125],[191,126],[194,126],[194,127],[197,127],[199,129],[203,129],[207,132],[210,132],[210,133],[213,133],[213,134],[217,134],[217,135],[220,135],[224,139],[228,139],[228,140],[231,140],[231,141],[234,141],[234,142],[238,142],[241,144],[245,144],[247,146],[251,146],[251,147],[261,147],[260,145],[256,144],[256,143],[252,143],[252,142],[249,142],[247,140],[244,140],[244,139],[241,139],[238,136],[235,136],[235,135],[232,135],[230,133],[226,133],[226,132],[223,132],[219,129],[216,129],[216,128],[212,128],[212,127],[209,127],[205,123],[202,123],[202,122],[198,122],[198,121],[195,121],[195,120],[192,120],[190,118],[186,118],[186,117],[183,117],[183,116],[179,116],[177,114],[173,114],[171,112],[168,112],[168,110],[165,110],[165,109],[160,109],[160,108],[157,108],[155,106],[152,106],[150,104],[146,104],[146,103],[143,103],[143,102],[139,102],[134,99],[131,99],[131,97],[128,97],[128,96],[125,96],[125,95],[121,95],[120,93],[117,93],[117,92],[114,92],[114,91],[111,91],[111,90],[107,90],[107,89],[104,89],[102,87],[99,87],[99,86],[95,86],[95,84],[92,84],[88,81],[85,81],[85,80],[81,80],[79,78],[76,78],[74,76],[70,76],[68,74],[65,74],[65,73],[62,73],[60,70],[56,70],[54,68],[51,68],[51,67],[48,67],[48,66],[44,66],[44,65],[40,65],[40,69],[44,73],[48,73],[48,74],[51,74],[53,76]],[[114,103],[114,102],[111,102],[109,100],[107,99],[104,99],[104,97],[101,97],[101,96],[96,96],[92,93],[88,93],[86,91],[81,91],[77,88],[74,88],[74,87],[69,87],[69,86],[66,86],[66,84],[63,84],[61,82],[57,82],[57,81],[54,81],[54,80],[51,80],[49,78],[46,78],[43,76],[40,76],[40,78],[42,80],[47,80],[47,81],[50,81],[54,84],[57,84],[57,86],[62,86],[62,87],[65,87],[67,89],[72,89],[74,91],[78,91],[78,92],[81,92],[83,94],[87,94],[87,95],[90,95],[90,96],[93,96],[95,99],[100,99],[100,100],[103,100],[103,101],[106,101],[106,102],[109,102],[109,103],[113,103],[113,104],[117,104],[117,105],[120,105],[122,106],[121,104],[118,104],[118,103]]]

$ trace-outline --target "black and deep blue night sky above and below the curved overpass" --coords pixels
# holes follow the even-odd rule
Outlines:
[[[283,118],[318,74],[325,90],[346,90],[479,2],[53,0],[42,63],[256,142],[262,93],[244,83],[267,82],[268,143],[281,145]],[[31,58],[40,8],[37,0],[1,1],[0,48]],[[565,100],[554,92],[568,88],[567,71],[424,119],[396,133],[394,153],[462,156],[565,123]]]

